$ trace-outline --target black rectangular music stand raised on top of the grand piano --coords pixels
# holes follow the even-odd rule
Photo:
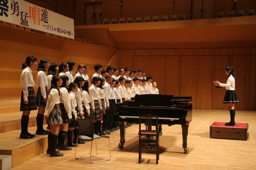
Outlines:
[[[136,94],[134,104],[140,106],[172,106],[173,95],[164,94]]]

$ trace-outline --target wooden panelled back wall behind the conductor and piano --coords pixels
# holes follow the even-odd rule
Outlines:
[[[203,109],[227,109],[222,104],[226,89],[213,81],[225,83],[225,68],[233,66],[236,109],[256,109],[255,48],[119,50],[118,56],[120,68],[143,69],[153,76],[160,94],[192,96],[193,107]]]

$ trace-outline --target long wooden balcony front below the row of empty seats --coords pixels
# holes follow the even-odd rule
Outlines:
[[[178,44],[210,47],[227,43],[255,47],[255,30],[256,16],[75,26],[78,36],[95,38],[96,42],[102,38],[105,42],[101,43],[109,41],[111,36],[117,41],[118,48],[143,48],[147,45],[168,48]]]

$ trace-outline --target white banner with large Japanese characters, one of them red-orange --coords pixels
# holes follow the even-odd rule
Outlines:
[[[0,0],[0,20],[74,39],[74,19],[22,0]]]

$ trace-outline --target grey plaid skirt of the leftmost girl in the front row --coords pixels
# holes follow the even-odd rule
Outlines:
[[[47,124],[48,125],[60,125],[63,124],[62,117],[61,117],[61,112],[60,112],[60,107],[58,104],[54,105],[48,119],[47,119]]]

